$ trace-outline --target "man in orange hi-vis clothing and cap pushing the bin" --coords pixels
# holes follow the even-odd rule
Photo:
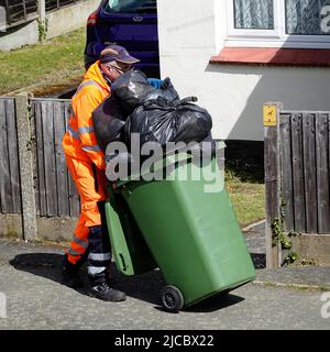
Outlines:
[[[109,45],[89,67],[72,99],[73,113],[63,139],[67,167],[79,191],[81,213],[69,250],[64,255],[63,283],[82,285],[79,268],[87,257],[89,295],[120,301],[125,294],[110,286],[111,246],[105,219],[106,164],[97,144],[92,111],[111,94],[111,84],[139,59],[119,45]]]

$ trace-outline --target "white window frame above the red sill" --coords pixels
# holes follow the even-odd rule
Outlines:
[[[299,35],[286,33],[285,0],[273,0],[274,30],[234,28],[234,0],[227,0],[226,46],[330,48],[330,35]]]

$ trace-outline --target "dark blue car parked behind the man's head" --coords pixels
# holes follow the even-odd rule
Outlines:
[[[102,0],[87,20],[86,69],[109,44],[124,46],[141,59],[138,69],[158,78],[157,0]]]

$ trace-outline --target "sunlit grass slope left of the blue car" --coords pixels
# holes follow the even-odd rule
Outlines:
[[[63,86],[81,77],[85,42],[84,28],[44,44],[0,52],[0,95],[33,85]]]

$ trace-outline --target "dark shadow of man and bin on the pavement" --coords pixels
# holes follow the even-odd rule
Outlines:
[[[19,254],[10,264],[19,270],[33,275],[42,276],[51,279],[55,283],[62,283],[61,266],[62,266],[61,254],[55,253],[26,253]],[[111,264],[111,280],[112,286],[117,289],[124,292],[128,296],[147,301],[154,305],[155,309],[163,310],[161,307],[160,293],[164,286],[166,286],[162,273],[158,270],[147,272],[136,276],[124,276],[117,271],[116,264]],[[87,267],[86,265],[81,268],[81,277],[87,284]],[[87,295],[86,288],[76,289],[82,295]],[[231,295],[231,294],[218,294],[201,302],[186,308],[185,311],[194,312],[208,312],[226,308],[231,305],[235,305],[242,301],[243,298]]]

